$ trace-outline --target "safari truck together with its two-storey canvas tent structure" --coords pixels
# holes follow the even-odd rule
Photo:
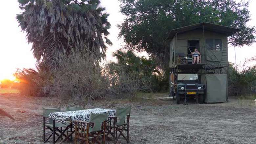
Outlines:
[[[173,29],[170,40],[170,93],[177,103],[188,98],[196,103],[228,99],[228,36],[239,29],[207,22]],[[195,49],[200,52],[194,63]],[[197,53],[198,54],[198,53]]]

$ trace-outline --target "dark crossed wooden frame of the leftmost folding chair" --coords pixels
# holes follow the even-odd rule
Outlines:
[[[62,127],[55,127],[55,120],[53,120],[53,123],[50,123],[50,122],[46,122],[46,118],[50,119],[49,117],[43,116],[43,140],[44,140],[44,143],[48,142],[48,140],[53,136],[53,144],[55,144],[59,139],[63,139],[63,136],[67,137],[69,135],[69,132],[72,132],[72,124],[70,124],[63,130]],[[46,126],[47,123],[53,124],[53,127]],[[69,128],[70,128],[70,131],[69,131]],[[46,129],[49,129],[52,133],[47,133]],[[59,132],[59,134],[56,132]],[[67,135],[65,135],[65,132],[67,132]],[[46,134],[49,135],[47,138],[46,138]],[[57,139],[55,139],[55,135],[58,136]],[[72,141],[72,139],[73,139],[72,135],[68,139],[70,141]]]

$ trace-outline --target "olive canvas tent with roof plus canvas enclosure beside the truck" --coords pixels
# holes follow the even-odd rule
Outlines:
[[[207,22],[173,29],[167,39],[170,42],[170,67],[173,69],[226,69],[223,73],[200,74],[201,82],[206,85],[206,103],[227,101],[227,69],[228,69],[228,39],[227,37],[240,31],[239,29],[215,25]],[[193,49],[201,53],[201,64],[180,63],[180,55],[186,59],[192,57]],[[178,60],[179,59],[179,60]],[[188,60],[187,60],[188,61]]]

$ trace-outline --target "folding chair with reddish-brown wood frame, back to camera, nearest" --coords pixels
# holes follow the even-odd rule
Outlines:
[[[92,144],[95,142],[100,144],[99,137],[101,137],[101,143],[105,144],[105,131],[107,119],[108,113],[91,113],[89,122],[75,120],[75,144],[77,142],[77,139],[82,140],[80,144],[84,142],[85,144]]]

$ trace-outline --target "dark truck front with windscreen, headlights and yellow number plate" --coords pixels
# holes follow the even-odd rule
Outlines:
[[[184,99],[195,98],[196,102],[203,103],[206,86],[201,84],[198,74],[177,74],[177,86],[175,88],[176,103]]]

